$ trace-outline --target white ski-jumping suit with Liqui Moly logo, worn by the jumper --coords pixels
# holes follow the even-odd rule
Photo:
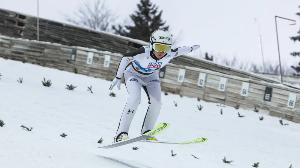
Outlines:
[[[141,102],[141,87],[143,87],[149,100],[141,134],[154,128],[161,110],[161,85],[158,69],[164,67],[171,59],[190,53],[199,47],[199,45],[193,45],[171,49],[161,59],[158,59],[153,53],[150,54],[148,46],[124,54],[119,63],[116,78],[121,79],[124,76],[129,99],[123,110],[116,137],[123,133],[128,134],[131,121]]]

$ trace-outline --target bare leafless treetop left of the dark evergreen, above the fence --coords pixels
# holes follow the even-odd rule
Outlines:
[[[87,1],[73,14],[74,16],[63,15],[67,22],[101,31],[110,31],[117,19],[116,13],[106,7],[104,2],[101,4],[101,0],[95,0],[92,5]]]

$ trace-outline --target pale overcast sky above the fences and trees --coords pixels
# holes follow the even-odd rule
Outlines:
[[[85,0],[39,0],[39,15],[42,18],[65,22],[61,13],[70,13]],[[93,2],[93,0],[88,0]],[[106,4],[120,16],[119,21],[128,19],[137,9],[140,0],[106,0]],[[280,56],[282,64],[297,65],[300,58],[289,55],[300,51],[300,42],[294,43],[289,36],[297,35],[300,18],[299,0],[152,0],[163,10],[162,17],[170,25],[171,33],[180,31],[181,41],[178,45],[201,47],[201,56],[205,52],[214,57],[223,56],[250,62],[262,63],[259,48],[258,24],[260,24],[262,48],[265,62],[278,64],[278,50],[274,16],[296,20],[293,22],[277,19]],[[117,6],[118,5],[118,6]],[[37,0],[0,0],[0,8],[37,15]],[[198,54],[194,52],[191,54]]]

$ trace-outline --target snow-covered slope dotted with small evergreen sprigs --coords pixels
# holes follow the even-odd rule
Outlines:
[[[171,145],[135,142],[113,149],[111,144],[128,99],[125,85],[109,96],[110,81],[38,65],[0,58],[0,167],[1,168],[99,168],[99,167],[209,167],[293,168],[300,165],[300,125],[287,120],[196,98],[164,95],[157,124],[170,128],[159,140],[207,143]],[[23,78],[23,83],[16,80]],[[41,80],[51,80],[44,87]],[[73,91],[66,85],[75,85]],[[93,94],[87,91],[92,85]],[[131,124],[129,136],[139,135],[148,108],[147,96]],[[178,106],[174,106],[174,102]],[[201,111],[197,105],[204,106]],[[220,114],[223,109],[223,115]],[[246,117],[238,117],[238,112]],[[263,116],[261,121],[259,117]],[[33,127],[32,131],[20,126]],[[62,138],[60,134],[67,134]],[[97,143],[103,138],[103,144]],[[138,147],[132,150],[132,147]],[[171,156],[171,150],[176,156]],[[194,158],[196,156],[199,159]],[[224,163],[222,159],[233,161]]]

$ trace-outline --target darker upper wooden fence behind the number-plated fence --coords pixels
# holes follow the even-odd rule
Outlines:
[[[37,18],[35,16],[0,8],[0,35],[1,34],[8,37],[37,40]],[[85,29],[43,18],[39,18],[39,34],[39,41],[94,48],[99,51],[110,51],[119,54],[134,51],[143,45],[149,45],[149,42],[118,36],[104,31]],[[208,69],[223,74],[259,81],[279,83],[278,80],[272,78],[263,77],[248,71],[241,71],[229,66],[219,65],[205,59],[192,58],[190,56],[183,55],[176,57],[172,59],[170,63]]]

